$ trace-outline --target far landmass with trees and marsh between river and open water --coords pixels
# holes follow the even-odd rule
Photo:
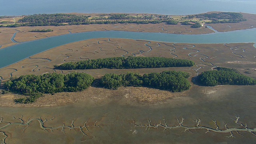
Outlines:
[[[34,14],[31,16],[0,16],[0,46],[58,36],[68,33],[122,30],[132,32],[163,32],[173,34],[209,34],[242,30],[256,26],[256,14],[207,12],[187,16],[160,14]],[[15,33],[15,36],[14,36]],[[13,38],[13,41],[10,39]]]

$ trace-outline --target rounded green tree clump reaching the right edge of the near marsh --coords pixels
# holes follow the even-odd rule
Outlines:
[[[216,70],[202,72],[198,76],[198,82],[205,86],[216,86],[218,84],[231,85],[255,85],[256,80],[240,74],[235,69],[216,68]]]

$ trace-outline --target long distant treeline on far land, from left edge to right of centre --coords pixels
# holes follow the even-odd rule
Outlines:
[[[162,18],[162,19],[161,19]],[[134,17],[128,14],[110,14],[108,18],[100,17],[94,18],[96,20],[88,20],[88,16],[75,15],[75,14],[34,14],[25,16],[15,24],[7,26],[0,25],[0,27],[19,27],[19,26],[62,26],[62,25],[86,25],[86,24],[158,24],[166,22],[167,24],[178,24],[175,20],[164,18],[162,16],[158,19],[153,19],[151,16]],[[64,24],[68,23],[68,24]]]

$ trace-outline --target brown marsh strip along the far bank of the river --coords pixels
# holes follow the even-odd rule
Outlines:
[[[208,12],[210,13],[210,12]],[[224,24],[208,24],[212,26],[218,32],[229,32],[234,30],[244,30],[256,27],[256,14],[246,14],[244,15],[246,21],[239,23],[224,23]],[[77,14],[80,15],[80,14]],[[86,14],[95,15],[95,14]],[[174,18],[180,18],[180,16],[173,16]],[[30,32],[34,29],[51,29],[53,32]],[[206,27],[201,28],[191,28],[188,25],[168,25],[166,23],[160,24],[89,24],[89,25],[66,25],[66,26],[23,26],[17,28],[0,28],[0,48],[5,48],[16,44],[10,39],[17,32],[14,40],[17,42],[26,42],[31,40],[38,40],[42,38],[47,38],[51,36],[59,36],[69,33],[78,32],[90,32],[90,31],[130,31],[130,32],[161,32],[169,34],[210,34],[214,33]]]

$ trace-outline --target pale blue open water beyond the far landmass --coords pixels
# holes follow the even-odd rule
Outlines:
[[[0,0],[0,16],[42,13],[154,13],[185,15],[208,11],[256,14],[256,0]]]

